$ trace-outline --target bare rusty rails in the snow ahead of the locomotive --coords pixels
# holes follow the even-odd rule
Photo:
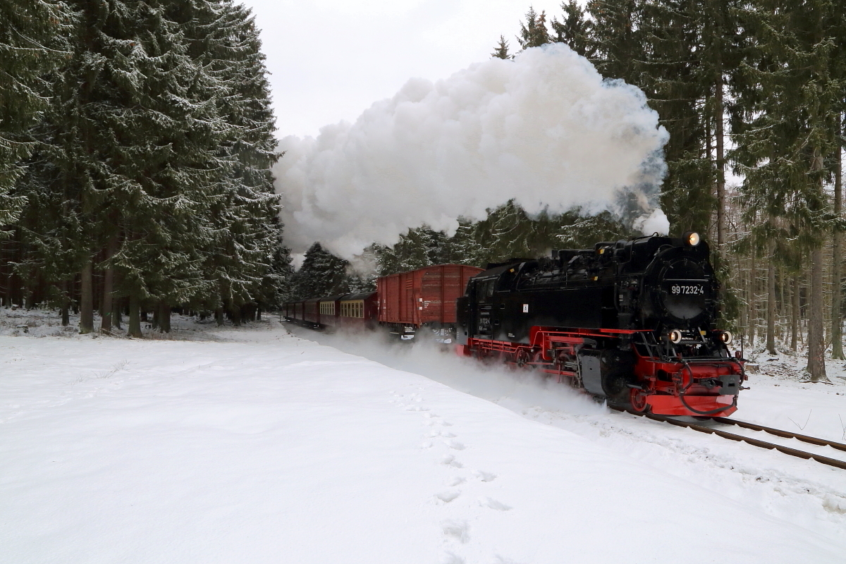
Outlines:
[[[623,411],[625,413],[631,413],[632,415],[637,415],[639,417],[645,417],[646,419],[652,419],[653,421],[662,421],[663,423],[668,423],[671,425],[676,425],[677,427],[687,427],[688,429],[700,431],[700,433],[707,433],[708,435],[717,435],[721,436],[723,439],[728,439],[730,441],[743,441],[750,445],[760,446],[761,448],[766,449],[775,449],[778,452],[783,452],[784,454],[788,454],[792,457],[799,457],[805,459],[813,459],[816,460],[818,463],[827,464],[828,466],[833,466],[835,468],[841,468],[846,470],[846,461],[838,460],[837,458],[831,457],[824,457],[820,454],[816,454],[814,452],[805,452],[800,451],[799,449],[790,448],[789,446],[777,445],[772,442],[761,441],[760,439],[755,439],[752,437],[744,436],[744,435],[737,435],[735,433],[729,433],[728,431],[722,429],[714,429],[712,427],[708,427],[704,424],[696,424],[696,423],[688,423],[687,421],[679,421],[678,419],[673,419],[672,417],[667,417],[666,415],[656,415],[654,413],[640,413],[636,412],[632,409],[628,408],[621,408],[618,406],[609,406],[612,409],[617,411]],[[772,427],[766,427],[765,425],[759,425],[755,423],[747,423],[745,421],[737,421],[735,419],[727,419],[725,417],[714,417],[711,420],[720,423],[720,424],[727,424],[727,425],[737,425],[744,429],[755,430],[755,431],[765,431],[770,435],[776,435],[787,439],[796,439],[798,441],[807,442],[811,445],[816,446],[830,446],[831,448],[837,449],[838,451],[846,452],[846,445],[840,442],[835,441],[827,441],[826,439],[820,439],[813,436],[808,435],[799,435],[799,433],[791,433],[790,431],[781,430],[781,429],[774,429]]]

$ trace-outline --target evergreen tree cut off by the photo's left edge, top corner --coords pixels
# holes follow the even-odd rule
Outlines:
[[[35,148],[30,128],[47,108],[52,87],[44,75],[69,56],[63,37],[72,25],[57,0],[0,3],[0,227],[14,223],[25,195],[11,194]],[[0,230],[0,238],[8,233]]]

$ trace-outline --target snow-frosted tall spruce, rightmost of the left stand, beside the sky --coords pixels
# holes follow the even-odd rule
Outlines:
[[[179,19],[192,57],[217,90],[217,114],[227,126],[219,156],[232,165],[211,206],[215,237],[203,270],[217,293],[208,305],[233,310],[277,299],[268,296],[276,296],[274,284],[283,285],[288,255],[279,249],[282,226],[270,172],[278,155],[259,32],[250,10],[231,0],[183,4]]]

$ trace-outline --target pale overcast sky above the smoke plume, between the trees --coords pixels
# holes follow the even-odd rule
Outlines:
[[[561,19],[560,0],[243,0],[272,73],[277,136],[316,136],[393,96],[410,78],[437,80],[512,51],[532,3]]]

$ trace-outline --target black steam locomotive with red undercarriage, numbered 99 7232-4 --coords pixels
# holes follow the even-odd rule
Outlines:
[[[470,279],[457,342],[637,411],[728,415],[745,375],[717,329],[718,287],[696,233],[509,260]]]

